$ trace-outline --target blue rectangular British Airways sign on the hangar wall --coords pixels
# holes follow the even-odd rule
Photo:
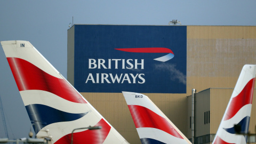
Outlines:
[[[79,92],[186,93],[187,27],[75,25]]]

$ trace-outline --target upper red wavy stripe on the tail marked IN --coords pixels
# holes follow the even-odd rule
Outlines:
[[[32,63],[19,59],[7,58],[19,91],[42,90],[58,95],[71,102],[87,103],[65,79],[45,73]]]

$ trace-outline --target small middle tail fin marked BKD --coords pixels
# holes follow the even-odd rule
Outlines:
[[[123,92],[142,144],[191,143],[146,96]]]

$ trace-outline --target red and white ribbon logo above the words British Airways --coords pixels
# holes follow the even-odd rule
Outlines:
[[[137,53],[168,53],[163,57],[154,59],[162,62],[168,61],[174,57],[172,50],[167,49],[165,47],[125,48],[125,49],[115,49],[115,50],[125,51],[125,52],[137,52]]]

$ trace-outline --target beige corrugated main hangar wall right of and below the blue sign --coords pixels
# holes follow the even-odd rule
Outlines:
[[[256,64],[256,27],[187,26],[187,93],[143,94],[186,135],[190,133],[186,96],[191,95],[191,89],[199,92],[209,87],[233,88],[246,63]],[[140,143],[122,93],[82,95],[127,141]]]

